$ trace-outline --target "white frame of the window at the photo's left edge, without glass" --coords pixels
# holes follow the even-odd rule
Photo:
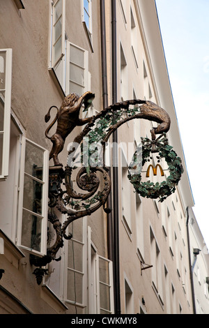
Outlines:
[[[9,153],[10,153],[10,114],[11,114],[11,89],[12,89],[12,56],[13,50],[1,49],[0,54],[6,53],[5,64],[5,86],[4,89],[0,89],[4,93],[3,102],[3,131],[0,131],[0,135],[3,135],[2,145],[2,167],[0,172],[0,181],[5,180],[8,177],[8,165],[9,165]],[[0,85],[1,87],[1,85]]]

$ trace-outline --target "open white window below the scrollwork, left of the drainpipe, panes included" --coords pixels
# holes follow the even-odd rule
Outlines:
[[[72,313],[109,314],[114,312],[112,262],[98,255],[91,241],[87,217],[70,226],[68,241],[65,300]]]

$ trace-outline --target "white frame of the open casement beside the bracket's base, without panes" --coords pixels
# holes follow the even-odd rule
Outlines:
[[[36,214],[33,211],[29,213],[36,215],[37,217],[42,217],[41,222],[41,241],[40,241],[40,251],[36,251],[33,248],[26,247],[22,245],[22,213],[23,213],[23,198],[24,198],[24,177],[25,177],[25,151],[26,142],[32,144],[34,147],[44,151],[43,153],[43,170],[42,170],[42,215]],[[48,214],[48,181],[49,181],[49,151],[39,144],[29,140],[24,135],[22,135],[22,147],[21,147],[21,159],[20,159],[20,184],[19,184],[19,199],[18,199],[18,213],[17,213],[17,246],[24,248],[29,253],[36,255],[46,255],[47,254],[47,214]],[[37,180],[34,178],[33,180]]]

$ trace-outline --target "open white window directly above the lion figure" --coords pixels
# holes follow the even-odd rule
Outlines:
[[[84,1],[84,23],[91,36],[91,0]],[[62,95],[80,96],[90,88],[88,52],[68,41],[65,33],[65,0],[52,2],[49,73]]]

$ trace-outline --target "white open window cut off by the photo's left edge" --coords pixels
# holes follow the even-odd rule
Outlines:
[[[12,50],[0,50],[0,179],[8,177]]]

